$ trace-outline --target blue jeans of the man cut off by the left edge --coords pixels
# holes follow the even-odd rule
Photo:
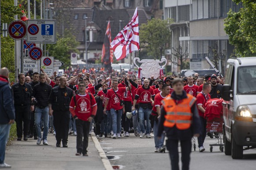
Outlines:
[[[0,124],[0,164],[4,163],[5,147],[9,138],[11,124]]]

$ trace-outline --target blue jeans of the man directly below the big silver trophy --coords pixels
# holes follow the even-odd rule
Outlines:
[[[139,108],[139,124],[140,124],[140,129],[142,133],[145,133],[145,127],[144,127],[144,122],[146,117],[146,134],[150,134],[151,130],[151,124],[150,124],[150,114],[151,110],[149,108],[143,109],[142,107]]]

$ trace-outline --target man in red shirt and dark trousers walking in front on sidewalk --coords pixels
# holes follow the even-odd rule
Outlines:
[[[90,131],[91,120],[97,112],[97,103],[91,93],[85,89],[83,81],[78,84],[78,94],[74,95],[69,105],[69,111],[73,118],[76,119],[77,126],[77,153],[76,156],[88,156],[88,136]],[[84,140],[83,140],[84,137]]]

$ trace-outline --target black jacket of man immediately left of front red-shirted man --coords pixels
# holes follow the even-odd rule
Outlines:
[[[53,111],[68,111],[69,104],[73,97],[73,90],[69,87],[60,88],[56,86],[51,89],[51,96],[49,98],[49,103],[52,105]]]

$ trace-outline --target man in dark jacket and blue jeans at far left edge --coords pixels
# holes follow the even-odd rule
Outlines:
[[[0,70],[0,168],[11,168],[4,163],[5,147],[9,138],[11,124],[15,120],[13,96],[8,81],[7,68]]]

